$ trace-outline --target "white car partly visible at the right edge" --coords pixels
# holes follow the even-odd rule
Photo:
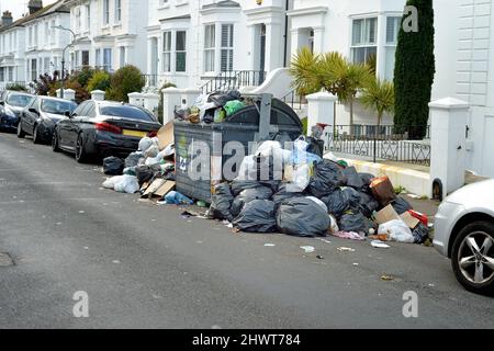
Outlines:
[[[434,246],[469,291],[494,294],[494,179],[467,185],[439,206]]]

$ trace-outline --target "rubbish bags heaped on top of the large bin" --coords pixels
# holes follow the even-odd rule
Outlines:
[[[252,103],[251,100],[242,98],[237,90],[232,90],[226,93],[201,95],[193,106],[176,110],[175,118],[193,124],[222,123],[226,117],[229,117]]]

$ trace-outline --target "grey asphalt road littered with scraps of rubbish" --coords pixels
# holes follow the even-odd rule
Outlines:
[[[465,292],[431,248],[233,234],[103,180],[97,166],[0,134],[0,252],[15,262],[0,267],[0,328],[494,326],[494,301]],[[78,291],[89,318],[72,315]],[[418,318],[403,316],[407,291]]]

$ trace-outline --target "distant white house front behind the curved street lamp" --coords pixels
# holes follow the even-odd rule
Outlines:
[[[70,36],[54,26],[70,26],[69,12],[64,2],[55,2],[43,14],[24,22],[26,81],[61,70],[63,49],[70,43]]]

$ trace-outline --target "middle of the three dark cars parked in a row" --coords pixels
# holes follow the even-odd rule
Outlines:
[[[49,97],[36,97],[21,113],[18,136],[33,136],[34,144],[50,143],[55,124],[76,110],[75,102]]]

